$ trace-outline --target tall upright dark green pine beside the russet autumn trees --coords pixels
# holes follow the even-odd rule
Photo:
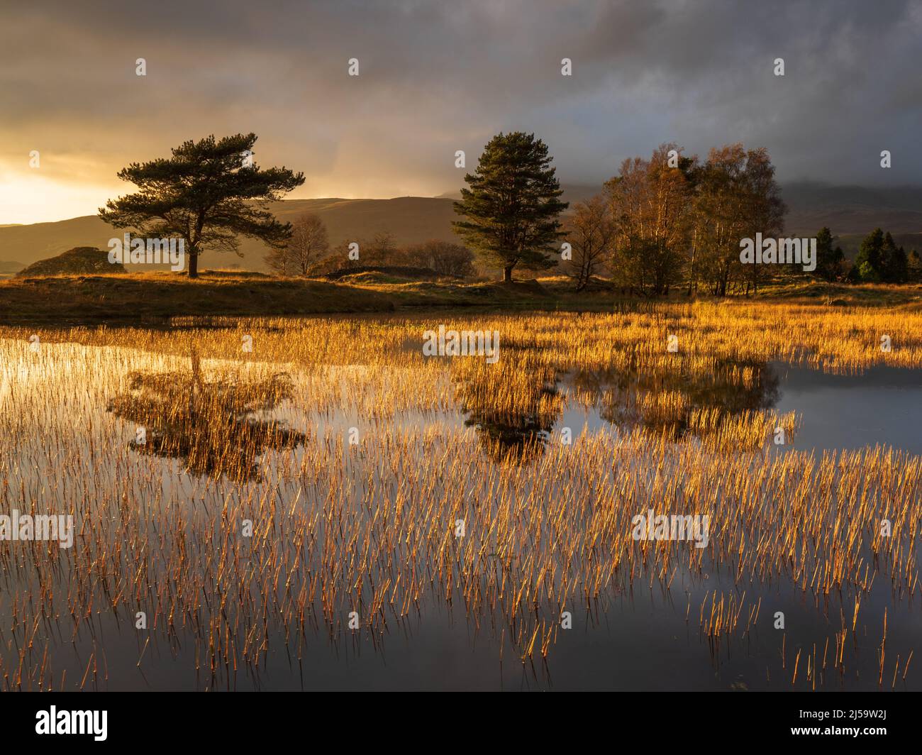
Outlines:
[[[521,263],[547,269],[561,238],[558,221],[567,203],[550,166],[548,146],[534,134],[498,134],[480,155],[477,170],[467,174],[455,212],[466,218],[452,225],[455,233],[491,266],[502,268],[502,280],[513,280]]]

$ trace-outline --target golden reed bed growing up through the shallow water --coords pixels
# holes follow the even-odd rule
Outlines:
[[[845,678],[870,626],[881,686],[912,682],[912,649],[891,651],[867,606],[920,589],[919,457],[775,452],[798,417],[764,395],[768,361],[922,366],[922,315],[663,305],[445,321],[498,330],[495,365],[423,357],[432,324],[177,320],[39,330],[37,350],[31,331],[0,331],[0,513],[76,528],[69,550],[0,543],[3,689],[105,688],[103,617],[136,636],[138,673],[155,653],[192,657],[214,689],[272,654],[301,663],[316,637],[382,642],[431,605],[528,664],[552,657],[563,612],[593,623],[680,585],[703,596],[685,619],[715,656],[774,631],[779,595],[797,593],[834,634],[817,654],[778,632],[785,684]],[[610,425],[562,437],[590,407]],[[707,517],[706,547],[634,539],[649,509]],[[61,653],[74,644],[80,668]]]

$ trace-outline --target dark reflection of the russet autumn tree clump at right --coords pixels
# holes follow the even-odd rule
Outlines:
[[[643,426],[678,439],[689,432],[692,410],[716,408],[727,415],[771,409],[780,378],[765,362],[723,360],[708,369],[640,372],[580,370],[573,386],[599,404],[612,425]]]

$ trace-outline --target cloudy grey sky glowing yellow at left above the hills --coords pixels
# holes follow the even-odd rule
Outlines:
[[[469,171],[510,130],[570,184],[669,141],[765,147],[781,183],[919,184],[920,61],[922,0],[19,2],[0,224],[94,214],[129,162],[251,131],[257,164],[306,175],[289,198],[456,191],[455,151]]]

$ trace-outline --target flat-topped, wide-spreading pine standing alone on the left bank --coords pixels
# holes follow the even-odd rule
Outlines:
[[[304,183],[304,174],[285,167],[262,170],[253,162],[255,134],[186,141],[171,158],[132,162],[118,177],[140,191],[110,199],[100,218],[116,228],[134,228],[155,238],[177,237],[185,244],[189,277],[198,277],[205,249],[236,252],[238,236],[283,246],[291,224],[266,210]]]

